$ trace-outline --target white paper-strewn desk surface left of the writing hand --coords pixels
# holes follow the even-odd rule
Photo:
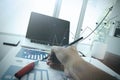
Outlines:
[[[19,45],[3,45],[4,41],[10,39],[20,40]],[[0,80],[4,78],[7,78],[8,80],[12,79],[13,74],[18,71],[18,69],[35,61],[16,57],[22,47],[29,47],[31,49],[35,48],[36,50],[47,50],[47,52],[50,52],[51,50],[51,46],[31,43],[30,40],[26,39],[24,36],[0,34]],[[43,76],[40,77],[40,75]],[[43,80],[66,80],[66,77],[62,71],[51,69],[46,62],[43,61],[40,61],[39,64],[35,66],[34,71],[27,74],[22,80],[41,80],[41,78],[43,78]]]

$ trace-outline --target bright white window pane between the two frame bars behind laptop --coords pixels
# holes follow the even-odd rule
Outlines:
[[[74,41],[83,0],[62,0],[59,18],[70,21],[70,42]]]

